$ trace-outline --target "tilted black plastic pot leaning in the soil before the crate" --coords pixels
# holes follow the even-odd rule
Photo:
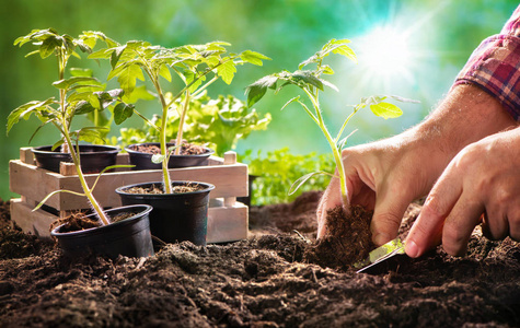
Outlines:
[[[129,257],[153,256],[153,243],[150,234],[149,214],[152,207],[147,204],[120,207],[106,210],[111,216],[118,213],[134,213],[135,215],[99,227],[81,231],[65,232],[63,224],[50,232],[58,239],[58,244],[68,257],[76,257],[95,253],[116,258],[118,255]],[[94,214],[88,215],[92,216]]]

